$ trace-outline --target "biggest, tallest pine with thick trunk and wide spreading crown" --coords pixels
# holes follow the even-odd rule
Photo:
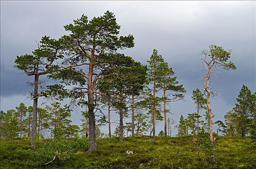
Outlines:
[[[58,72],[51,77],[62,79],[66,86],[73,84],[74,88],[68,90],[60,84],[48,86],[48,89],[53,94],[64,94],[63,97],[88,106],[89,151],[93,151],[96,150],[97,81],[103,79],[108,70],[126,67],[128,57],[118,54],[117,50],[133,47],[134,38],[132,35],[118,36],[120,26],[115,15],[109,11],[91,20],[82,15],[64,28],[69,32],[62,37],[66,56],[56,68]]]

